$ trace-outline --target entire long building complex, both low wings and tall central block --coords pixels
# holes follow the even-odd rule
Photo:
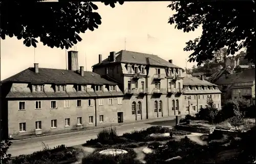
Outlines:
[[[219,107],[214,84],[183,72],[172,60],[124,50],[104,60],[99,55],[87,72],[78,66],[78,52],[70,51],[68,69],[35,63],[1,81],[2,128],[15,138],[195,114],[208,96]]]

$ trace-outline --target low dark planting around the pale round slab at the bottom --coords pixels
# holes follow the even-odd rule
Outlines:
[[[86,164],[98,164],[98,163],[142,163],[139,160],[136,160],[136,152],[133,149],[129,148],[124,148],[124,147],[109,147],[109,149],[122,149],[126,150],[128,153],[126,154],[120,154],[120,155],[103,155],[99,154],[101,150],[106,150],[104,149],[99,149],[94,151],[92,154],[84,157],[82,159],[82,163]]]

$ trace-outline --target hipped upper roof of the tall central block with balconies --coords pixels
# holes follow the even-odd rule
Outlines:
[[[115,62],[181,68],[172,63],[169,63],[168,61],[158,57],[157,55],[144,54],[144,53],[138,53],[138,52],[132,52],[132,51],[126,51],[126,50],[121,50],[118,53],[116,53]],[[115,62],[111,62],[111,63],[115,63]],[[101,63],[97,63],[93,65],[93,67],[108,64],[108,63],[110,62],[109,62],[109,59],[107,58],[102,60]]]

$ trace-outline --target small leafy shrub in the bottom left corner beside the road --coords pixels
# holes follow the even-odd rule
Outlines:
[[[8,163],[11,160],[11,154],[7,154],[9,147],[11,146],[12,142],[9,140],[4,140],[1,142],[1,149],[0,149],[0,158],[2,163]]]

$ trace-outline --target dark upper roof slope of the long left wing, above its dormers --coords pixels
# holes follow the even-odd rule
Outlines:
[[[77,72],[67,69],[38,68],[38,73],[34,72],[33,67],[29,67],[24,71],[11,76],[1,83],[17,82],[17,83],[63,83],[63,84],[112,84],[116,83],[102,78],[100,75],[85,71],[84,76]]]

